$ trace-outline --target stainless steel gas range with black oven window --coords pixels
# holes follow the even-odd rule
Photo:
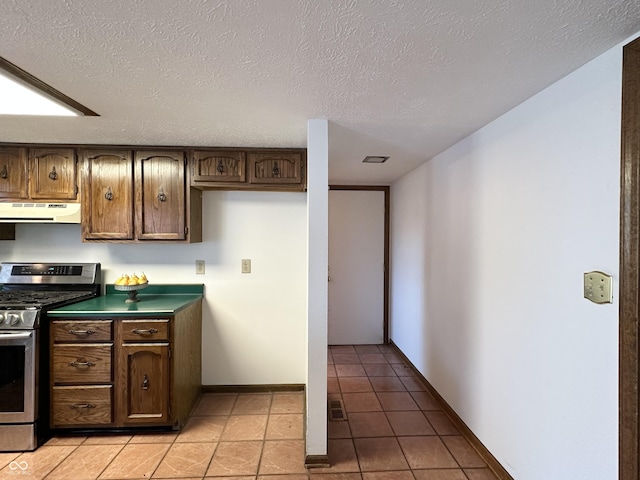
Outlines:
[[[3,262],[0,287],[0,451],[34,450],[49,430],[47,311],[100,295],[100,264]]]

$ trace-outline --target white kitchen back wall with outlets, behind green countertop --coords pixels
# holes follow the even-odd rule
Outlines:
[[[101,262],[107,283],[132,271],[151,283],[204,283],[203,384],[304,384],[306,204],[305,193],[206,191],[203,242],[191,245],[87,244],[79,225],[17,225],[0,261]]]

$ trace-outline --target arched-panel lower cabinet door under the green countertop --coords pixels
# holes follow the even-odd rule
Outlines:
[[[118,423],[169,422],[169,344],[122,344],[118,374]]]

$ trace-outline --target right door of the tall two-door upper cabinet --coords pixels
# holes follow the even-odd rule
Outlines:
[[[136,237],[184,240],[185,156],[182,151],[138,151]]]

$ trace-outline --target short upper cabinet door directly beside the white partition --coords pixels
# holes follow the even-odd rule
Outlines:
[[[249,154],[249,183],[262,185],[302,184],[302,154]]]

